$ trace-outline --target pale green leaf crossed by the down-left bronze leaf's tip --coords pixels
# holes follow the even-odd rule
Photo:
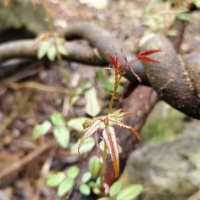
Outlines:
[[[78,142],[71,148],[70,153],[71,154],[78,154],[78,146],[80,144],[81,140],[78,140]],[[88,138],[87,140],[85,140],[85,142],[82,144],[81,148],[80,148],[80,154],[84,154],[87,153],[89,151],[91,151],[93,149],[95,145],[95,140],[94,138]]]

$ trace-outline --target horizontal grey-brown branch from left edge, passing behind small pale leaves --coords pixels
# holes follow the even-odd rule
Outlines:
[[[68,61],[80,62],[94,66],[104,66],[107,63],[95,54],[95,51],[87,44],[78,42],[66,42],[67,55],[63,56]],[[0,45],[0,62],[11,58],[37,59],[39,45],[34,40],[22,40],[8,42]]]

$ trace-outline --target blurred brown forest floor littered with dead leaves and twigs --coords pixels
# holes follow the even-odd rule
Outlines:
[[[92,5],[90,2],[93,2]],[[97,3],[95,4],[95,2]],[[151,18],[151,11],[149,11],[151,9],[147,2],[149,1],[49,0],[47,7],[56,29],[67,28],[69,24],[77,21],[94,22],[108,30],[114,37],[123,40],[129,49],[135,51],[144,34],[157,31],[170,34],[168,27],[172,24],[173,17],[163,17],[162,15],[160,18],[155,18],[156,20]],[[181,46],[181,53],[200,49],[200,38],[197,34],[199,30],[195,21],[191,21],[190,24]],[[71,88],[75,89],[89,81],[98,89],[98,98],[103,114],[108,106],[107,99],[110,96],[102,89],[101,83],[97,83],[95,77],[98,68],[75,62],[65,62],[64,64],[71,80]],[[28,70],[24,70],[24,77],[15,74],[12,78],[13,82],[25,82],[25,87],[23,89],[5,88],[0,93],[0,199],[59,199],[56,197],[56,190],[45,185],[45,177],[49,171],[59,171],[78,162],[79,157],[72,157],[68,150],[59,147],[52,131],[39,141],[33,141],[32,132],[35,125],[50,120],[50,116],[54,112],[62,113],[66,119],[69,114],[74,112],[68,108],[68,96],[62,90],[65,87],[62,71],[57,62],[52,62],[48,68],[44,63],[36,62],[29,66]],[[40,85],[34,84],[30,89],[27,87],[28,82]],[[41,85],[46,87],[43,88]],[[78,116],[86,115],[83,96],[75,105],[75,112]],[[168,113],[169,110],[170,108],[167,107],[166,112]],[[159,132],[158,138],[150,133],[149,136],[144,136],[142,143],[163,140],[160,132],[168,127],[171,132],[165,130],[167,133],[164,139],[166,139],[168,136],[177,134],[184,123],[189,123],[186,122],[187,120],[193,121],[177,111],[172,111],[175,114],[172,114],[172,118],[166,122],[166,112],[161,113],[163,115],[163,120],[160,122],[161,128],[155,125],[159,123],[160,117],[155,119],[158,120],[156,123],[154,120],[156,126],[154,130]],[[178,125],[171,125],[177,119]],[[149,126],[152,126],[151,123]],[[148,130],[148,126],[146,129],[144,128],[145,135],[148,132],[146,130]],[[75,131],[72,133],[76,138],[78,133]],[[152,137],[154,138],[152,139]],[[75,139],[72,139],[71,143],[74,141]]]

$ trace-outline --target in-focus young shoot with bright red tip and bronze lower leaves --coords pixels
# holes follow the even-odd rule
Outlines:
[[[108,148],[108,151],[111,155],[112,158],[112,163],[114,167],[114,172],[115,172],[115,177],[117,178],[119,176],[119,149],[118,149],[118,140],[116,136],[116,131],[115,129],[110,126],[110,122],[114,123],[115,125],[128,129],[131,131],[133,134],[136,135],[136,137],[139,139],[139,134],[138,132],[133,129],[132,127],[124,124],[119,120],[120,117],[123,117],[124,115],[131,115],[132,113],[126,112],[124,110],[116,110],[115,112],[111,113],[112,111],[112,106],[113,106],[113,101],[115,98],[115,94],[117,91],[117,87],[119,85],[121,77],[125,74],[126,70],[130,70],[136,77],[137,79],[141,82],[140,77],[133,71],[131,64],[135,60],[142,60],[146,62],[153,62],[153,63],[159,63],[156,60],[153,60],[148,57],[148,55],[160,52],[161,50],[149,50],[149,51],[143,51],[139,53],[132,61],[128,62],[126,55],[123,53],[121,49],[121,54],[126,62],[126,66],[123,69],[120,69],[122,62],[119,61],[117,54],[115,53],[115,58],[113,58],[105,49],[105,53],[108,55],[108,57],[111,59],[112,63],[114,66],[109,66],[109,67],[104,67],[104,69],[111,69],[115,70],[115,85],[114,85],[114,90],[112,93],[112,98],[110,101],[110,106],[109,106],[109,111],[108,115],[106,117],[96,117],[93,119],[86,120],[83,123],[83,128],[88,128],[84,136],[81,138],[78,151],[80,152],[81,145],[83,144],[84,140],[87,138],[91,137],[93,134],[97,132],[99,129],[99,126],[101,123],[104,123],[104,130],[103,130],[103,140],[105,142],[106,148]],[[106,151],[105,151],[106,152]],[[106,158],[104,159],[104,162],[106,162]]]

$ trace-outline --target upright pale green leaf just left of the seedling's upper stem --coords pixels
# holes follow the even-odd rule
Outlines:
[[[86,98],[86,112],[88,115],[95,117],[101,110],[101,107],[98,103],[96,90],[94,87],[90,88],[85,93]]]

